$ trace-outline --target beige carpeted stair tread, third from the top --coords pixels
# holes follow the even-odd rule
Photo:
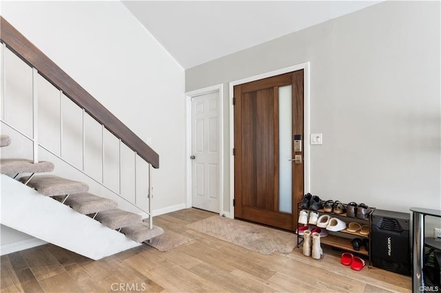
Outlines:
[[[26,180],[28,180],[28,176],[20,178],[21,182],[26,182]],[[85,193],[89,190],[88,184],[55,175],[35,175],[28,186],[46,196]]]

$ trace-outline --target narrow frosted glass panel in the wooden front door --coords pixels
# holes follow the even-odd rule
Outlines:
[[[291,85],[278,88],[279,202],[280,212],[292,213]]]

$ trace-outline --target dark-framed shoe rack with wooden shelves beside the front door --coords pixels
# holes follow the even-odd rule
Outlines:
[[[298,208],[298,213],[300,213],[300,210],[303,210],[302,208]],[[349,226],[349,223],[351,222],[357,222],[360,224],[360,226],[367,225],[369,228],[371,227],[371,219],[370,216],[367,217],[367,219],[360,219],[356,217],[347,217],[346,213],[342,214],[336,214],[336,213],[326,213],[325,210],[308,210],[309,212],[317,212],[320,215],[329,215],[329,217],[337,217],[341,219],[342,221],[345,221],[347,226]],[[298,227],[302,226],[302,224],[298,224]],[[313,225],[314,226],[314,225]],[[322,228],[325,229],[325,228]],[[300,246],[300,244],[303,242],[303,236],[297,235],[297,247]],[[345,252],[354,252],[357,254],[364,255],[369,258],[370,263],[370,257],[369,257],[369,250],[366,250],[365,246],[361,246],[360,250],[353,249],[352,246],[352,239],[354,238],[360,238],[360,239],[369,239],[370,243],[370,233],[369,235],[361,234],[360,231],[357,232],[349,232],[346,229],[340,230],[338,232],[329,232],[329,235],[325,237],[320,237],[320,243],[325,244],[327,246],[331,246],[333,248],[338,248],[340,250],[344,250]]]

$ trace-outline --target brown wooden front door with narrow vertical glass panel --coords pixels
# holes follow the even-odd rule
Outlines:
[[[291,86],[291,115],[280,124],[279,89]],[[303,195],[303,139],[301,151],[294,149],[294,135],[303,133],[303,70],[256,80],[234,87],[234,215],[240,219],[295,230],[297,202]],[[286,112],[286,111],[284,111]],[[289,111],[288,111],[289,112]],[[280,118],[281,119],[281,118]],[[286,120],[286,118],[284,118]],[[284,120],[284,121],[285,121]],[[291,125],[289,125],[291,123]],[[291,131],[286,134],[286,127]],[[284,129],[280,137],[280,129]],[[286,138],[286,135],[290,135]],[[289,163],[291,206],[281,208],[280,165],[291,158],[280,157],[280,142],[292,143],[287,154],[301,155],[302,162]],[[288,178],[289,180],[289,178]],[[286,182],[286,181],[285,181]],[[289,197],[289,195],[288,195]]]

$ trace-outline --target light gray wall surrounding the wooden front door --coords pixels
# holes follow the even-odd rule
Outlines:
[[[246,37],[246,36],[244,36]],[[186,91],[310,62],[311,193],[441,209],[440,2],[383,2],[187,69]],[[227,209],[226,209],[227,210]]]

